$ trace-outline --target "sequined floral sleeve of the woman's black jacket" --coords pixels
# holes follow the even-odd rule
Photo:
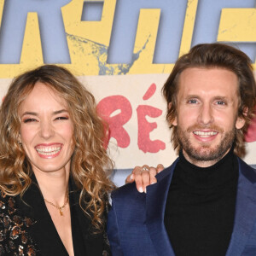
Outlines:
[[[0,190],[0,256],[34,256],[37,247],[27,229],[36,222],[19,213],[15,197]]]

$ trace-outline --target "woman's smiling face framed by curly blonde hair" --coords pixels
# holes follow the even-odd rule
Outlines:
[[[36,83],[19,109],[20,141],[33,172],[70,169],[73,121],[66,102],[43,83]]]

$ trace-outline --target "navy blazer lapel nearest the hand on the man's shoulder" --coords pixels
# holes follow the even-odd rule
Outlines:
[[[172,180],[172,174],[177,164],[177,160],[160,172],[157,177],[157,183],[147,187],[146,195],[146,224],[151,240],[154,244],[155,251],[159,255],[174,256],[174,252],[166,232],[164,224],[166,200],[168,190]]]

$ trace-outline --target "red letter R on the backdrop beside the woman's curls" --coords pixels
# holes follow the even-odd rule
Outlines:
[[[120,148],[127,148],[130,137],[123,125],[131,119],[131,103],[124,96],[108,96],[97,105],[97,111],[109,125],[109,137],[115,138]]]

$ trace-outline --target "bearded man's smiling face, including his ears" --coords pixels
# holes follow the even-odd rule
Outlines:
[[[238,78],[224,68],[189,67],[179,77],[177,138],[187,160],[196,166],[212,166],[229,151],[236,129]]]

